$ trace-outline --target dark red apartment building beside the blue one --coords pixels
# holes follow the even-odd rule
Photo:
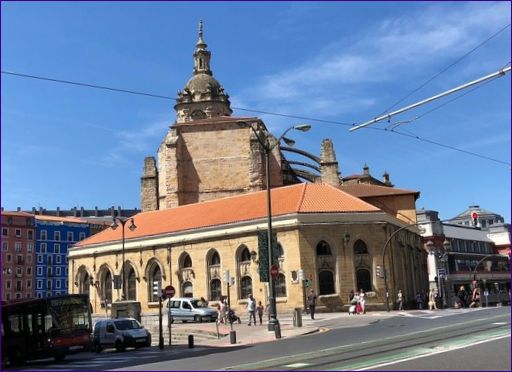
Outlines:
[[[2,300],[34,297],[34,215],[2,211]]]

